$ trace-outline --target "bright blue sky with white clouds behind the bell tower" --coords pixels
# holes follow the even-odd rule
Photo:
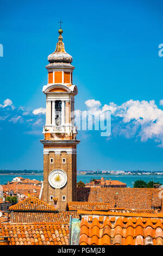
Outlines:
[[[33,111],[45,108],[45,66],[61,19],[76,109],[95,100],[93,111],[112,110],[109,138],[79,131],[77,168],[163,170],[162,11],[158,0],[1,3],[0,169],[43,169],[45,114]]]

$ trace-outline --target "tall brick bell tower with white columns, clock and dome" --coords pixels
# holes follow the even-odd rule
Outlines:
[[[62,29],[55,51],[48,56],[46,124],[43,127],[43,200],[58,210],[67,202],[77,201],[77,127],[74,126],[74,96],[77,86],[72,82],[72,56],[65,51]]]

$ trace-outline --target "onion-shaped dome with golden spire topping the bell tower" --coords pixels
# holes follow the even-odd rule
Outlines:
[[[62,29],[59,29],[59,37],[58,37],[58,42],[56,45],[56,49],[55,52],[51,53],[48,56],[48,61],[50,63],[54,63],[54,62],[63,62],[63,63],[71,63],[72,62],[72,56],[70,54],[68,54],[65,51],[65,45],[64,42],[62,42]]]

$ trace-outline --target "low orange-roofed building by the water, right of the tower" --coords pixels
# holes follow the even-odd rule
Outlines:
[[[104,180],[102,177],[99,180],[92,180],[89,183],[86,182],[85,187],[127,187],[126,183],[118,180]]]

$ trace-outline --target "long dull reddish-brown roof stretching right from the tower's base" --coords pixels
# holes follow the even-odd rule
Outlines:
[[[105,202],[110,208],[149,209],[159,208],[161,199],[158,188],[78,187],[77,201]],[[118,193],[118,194],[116,194]]]

